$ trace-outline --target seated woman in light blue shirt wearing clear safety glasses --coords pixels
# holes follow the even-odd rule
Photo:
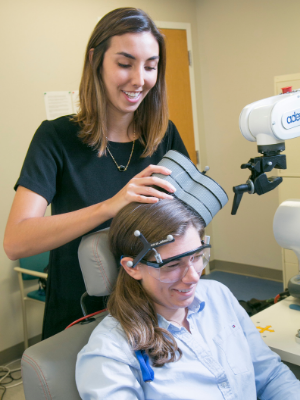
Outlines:
[[[131,203],[113,219],[121,268],[110,315],[78,355],[83,400],[299,400],[300,382],[229,289],[200,280],[204,241],[202,218],[177,199]]]

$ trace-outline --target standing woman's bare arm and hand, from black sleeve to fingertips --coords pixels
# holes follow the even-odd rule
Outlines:
[[[172,196],[151,186],[173,193],[167,181],[151,176],[169,175],[165,167],[149,165],[132,178],[114,197],[66,214],[45,217],[47,201],[42,196],[19,186],[7,221],[4,249],[11,260],[29,257],[55,249],[84,235],[113,218],[128,203],[156,203]]]

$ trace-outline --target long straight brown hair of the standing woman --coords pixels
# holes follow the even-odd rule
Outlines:
[[[80,108],[73,118],[81,126],[79,137],[97,149],[99,157],[105,154],[107,145],[107,96],[101,74],[104,55],[113,36],[140,32],[152,33],[159,45],[156,84],[134,113],[134,126],[145,146],[143,157],[153,154],[168,127],[164,37],[144,11],[131,7],[113,10],[98,22],[88,42],[79,87]],[[94,49],[92,61],[91,49]]]

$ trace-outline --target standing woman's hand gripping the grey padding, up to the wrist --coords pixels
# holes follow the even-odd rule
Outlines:
[[[155,189],[158,186],[169,193],[175,192],[175,187],[164,179],[151,176],[154,173],[170,175],[171,170],[159,165],[149,165],[142,172],[133,177],[114,197],[108,199],[107,205],[113,218],[124,206],[131,202],[156,203],[159,199],[173,197],[163,191]]]

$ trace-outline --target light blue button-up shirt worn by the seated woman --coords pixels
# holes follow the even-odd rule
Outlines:
[[[106,317],[77,358],[76,383],[83,400],[300,400],[300,381],[263,342],[227,287],[200,280],[189,307],[190,332],[159,316],[182,358],[152,367],[144,383],[123,329]]]

